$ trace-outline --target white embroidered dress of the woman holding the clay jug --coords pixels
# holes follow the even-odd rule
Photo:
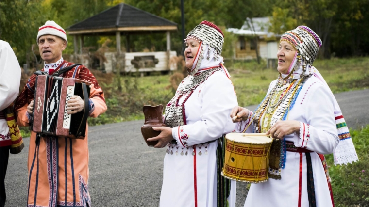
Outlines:
[[[185,78],[181,85],[191,78]],[[178,104],[186,98],[182,96]],[[224,71],[216,71],[189,96],[185,102],[186,125],[172,129],[178,144],[167,147],[160,207],[217,206],[217,139],[234,130],[230,113],[236,105],[234,87]],[[214,142],[206,143],[209,141]],[[232,181],[230,207],[235,207],[235,190]]]

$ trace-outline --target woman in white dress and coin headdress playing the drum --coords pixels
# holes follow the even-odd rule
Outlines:
[[[255,113],[239,106],[232,111],[237,132],[275,139],[268,163],[272,179],[251,185],[245,207],[332,207],[323,154],[335,153],[335,164],[358,160],[335,97],[312,66],[320,46],[306,26],[287,31],[277,53],[279,76],[267,96]]]

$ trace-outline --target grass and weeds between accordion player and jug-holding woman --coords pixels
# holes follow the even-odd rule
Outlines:
[[[165,106],[175,93],[168,75],[159,76],[158,73],[139,78],[135,74],[127,74],[121,77],[122,91],[119,91],[117,79],[112,74],[92,72],[104,90],[108,110],[98,118],[89,118],[89,125],[143,119],[144,105]]]

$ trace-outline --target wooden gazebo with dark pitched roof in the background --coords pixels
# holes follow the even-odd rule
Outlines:
[[[171,31],[177,31],[177,24],[175,22],[145,12],[125,3],[120,3],[68,28],[68,34],[73,35],[74,37],[74,54],[76,56],[82,55],[82,47],[84,44],[83,36],[115,35],[117,40],[117,52],[105,53],[105,57],[107,59],[107,63],[105,63],[106,72],[112,72],[116,67],[120,67],[123,68],[124,72],[141,72],[141,74],[142,72],[175,69],[170,68],[169,66],[169,59],[176,56],[175,51],[170,51]],[[166,33],[167,51],[129,52],[130,35],[151,33]],[[121,35],[126,36],[127,52],[121,51]],[[77,41],[78,39],[79,43]],[[121,61],[122,63],[119,63]]]

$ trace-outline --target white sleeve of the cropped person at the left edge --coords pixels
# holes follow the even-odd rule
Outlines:
[[[8,107],[18,96],[21,69],[10,45],[0,40],[0,99],[1,110]]]

